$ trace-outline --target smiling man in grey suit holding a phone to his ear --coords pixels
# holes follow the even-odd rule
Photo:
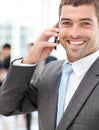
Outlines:
[[[0,95],[0,113],[19,114],[38,110],[40,130],[99,130],[99,0],[62,0],[59,29],[46,29],[22,65],[12,63]],[[29,84],[35,64],[49,56],[59,36],[66,50],[65,61],[48,64]],[[58,88],[62,69],[70,63],[64,114],[57,124]],[[28,65],[27,65],[28,64]],[[63,67],[62,67],[63,66]]]

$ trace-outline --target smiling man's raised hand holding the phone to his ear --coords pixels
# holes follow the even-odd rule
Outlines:
[[[48,40],[53,36],[57,37],[59,33],[59,29],[56,28],[57,24],[54,25],[52,28],[45,29],[45,31],[40,35],[37,39],[36,43],[33,45],[29,54],[24,57],[23,62],[24,64],[35,64],[39,61],[45,60],[54,47],[57,46],[54,42],[48,42]]]

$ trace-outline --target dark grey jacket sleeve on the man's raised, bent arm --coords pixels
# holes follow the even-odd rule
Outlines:
[[[11,64],[0,88],[0,114],[22,114],[37,109],[37,88],[30,83],[35,67]]]

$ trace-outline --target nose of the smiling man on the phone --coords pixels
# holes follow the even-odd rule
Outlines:
[[[78,39],[81,37],[81,30],[78,25],[73,25],[70,30],[71,38]]]

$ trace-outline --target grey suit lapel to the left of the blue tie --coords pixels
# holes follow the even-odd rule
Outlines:
[[[58,97],[58,87],[61,80],[61,73],[62,73],[62,64],[58,66],[58,69],[56,71],[55,80],[52,83],[54,86],[52,86],[51,89],[51,96],[49,101],[49,128],[50,130],[55,130],[55,124],[56,124],[56,114],[57,114],[57,97]]]

